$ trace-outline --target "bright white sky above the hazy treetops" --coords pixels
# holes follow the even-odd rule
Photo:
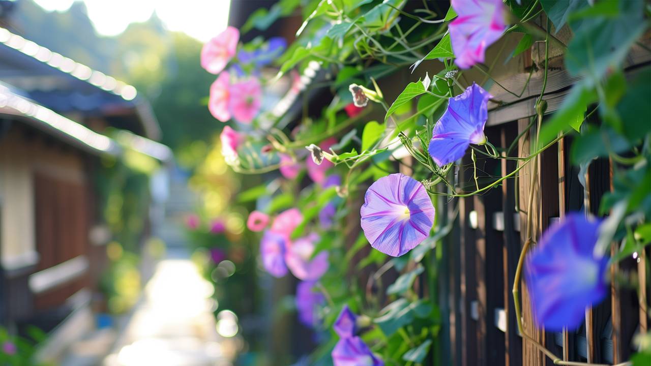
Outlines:
[[[182,31],[202,42],[226,28],[230,0],[34,0],[42,8],[64,11],[83,1],[100,35],[122,33],[130,23],[146,21],[154,10],[171,31]]]

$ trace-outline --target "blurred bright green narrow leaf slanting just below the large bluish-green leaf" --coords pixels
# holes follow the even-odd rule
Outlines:
[[[540,147],[547,145],[555,139],[559,132],[566,131],[570,123],[577,126],[577,119],[583,120],[585,110],[597,100],[596,93],[583,84],[577,84],[572,87],[570,94],[563,100],[559,110],[555,111],[551,120],[544,122],[540,128]]]

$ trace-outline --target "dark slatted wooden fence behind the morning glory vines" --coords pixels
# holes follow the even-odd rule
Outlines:
[[[500,83],[514,90],[522,89],[531,57],[531,53],[526,55],[522,69],[501,79]],[[635,77],[637,68],[648,64],[648,59],[648,52],[634,52],[627,61],[627,77]],[[544,97],[549,103],[547,114],[558,109],[575,81],[566,74],[562,65],[550,70]],[[517,151],[519,157],[530,154],[531,135],[535,129],[534,126],[530,130],[530,117],[534,114],[535,97],[542,88],[537,74],[519,98],[497,87],[490,90],[496,99],[508,102],[508,106],[490,112],[486,135],[493,145],[508,148],[519,134],[523,134],[512,152]],[[598,121],[592,118],[587,122]],[[611,190],[613,162],[594,160],[587,172],[587,188],[584,190],[579,182],[579,167],[570,162],[571,148],[572,138],[564,137],[538,159],[531,212],[536,236],[567,212],[580,211],[584,205],[594,216],[599,216],[603,193]],[[516,164],[515,160],[489,158],[478,160],[477,169],[484,176],[505,176],[516,169]],[[519,336],[512,297],[516,266],[525,240],[523,225],[527,220],[527,199],[532,189],[532,168],[533,161],[516,178],[505,180],[501,189],[494,188],[458,202],[441,199],[440,204],[447,207],[443,212],[447,211],[449,217],[455,217],[454,210],[458,209],[454,229],[443,240],[445,262],[439,268],[439,306],[441,313],[447,314],[443,320],[443,340],[449,342],[442,347],[447,350],[443,355],[444,365],[553,365],[553,361],[536,346]],[[455,172],[454,179],[458,188],[474,190],[470,158]],[[613,253],[616,246],[618,244],[613,243]],[[611,269],[614,274],[618,271],[616,266],[619,266],[619,270],[636,277],[639,292],[613,283],[607,298],[587,311],[584,324],[576,331],[552,333],[536,328],[527,289],[522,282],[523,328],[566,361],[611,365],[627,361],[635,352],[633,336],[647,331],[650,321],[647,294],[651,288],[647,282],[648,268],[645,267],[645,258],[649,255],[647,248]]]

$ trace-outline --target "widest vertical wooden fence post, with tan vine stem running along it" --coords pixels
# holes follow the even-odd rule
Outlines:
[[[511,122],[501,128],[501,146],[508,147],[518,135],[518,122]],[[513,152],[511,152],[513,154]],[[502,176],[516,169],[514,160],[501,160]],[[511,289],[516,277],[516,267],[521,250],[520,238],[513,221],[516,208],[516,180],[508,179],[502,185],[502,212],[504,212],[504,310],[506,313],[505,365],[518,366],[522,363],[522,339],[518,335],[518,323],[514,311]]]

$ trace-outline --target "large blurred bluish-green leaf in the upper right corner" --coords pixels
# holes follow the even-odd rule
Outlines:
[[[559,2],[559,3],[562,3]],[[616,18],[602,16],[581,21],[568,44],[565,65],[572,76],[584,75],[595,85],[611,66],[619,67],[628,49],[646,29],[643,1],[619,1]]]

